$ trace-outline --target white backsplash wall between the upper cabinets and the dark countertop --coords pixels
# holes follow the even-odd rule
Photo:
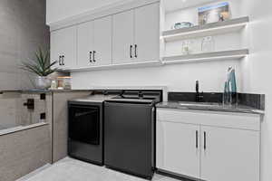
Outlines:
[[[156,68],[139,68],[112,71],[73,72],[73,89],[90,89],[92,86],[155,86],[165,85],[169,90],[222,91],[228,66],[238,69],[238,61],[199,62],[176,64]],[[238,69],[239,70],[239,69]],[[238,72],[238,80],[240,80]],[[241,84],[238,81],[239,85]],[[239,89],[239,88],[238,88]]]

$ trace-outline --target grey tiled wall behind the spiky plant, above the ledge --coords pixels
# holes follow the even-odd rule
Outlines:
[[[1,0],[0,12],[0,90],[30,88],[32,76],[19,66],[39,46],[49,48],[45,0]]]

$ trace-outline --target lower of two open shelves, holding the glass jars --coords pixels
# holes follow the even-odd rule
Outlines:
[[[203,52],[198,54],[178,55],[163,57],[164,64],[182,63],[182,62],[207,62],[219,60],[239,60],[248,55],[248,49],[231,50],[223,52]]]

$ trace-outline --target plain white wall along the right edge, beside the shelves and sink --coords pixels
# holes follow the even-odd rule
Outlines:
[[[261,180],[272,180],[272,1],[243,0],[241,11],[249,14],[250,55],[242,62],[243,88],[246,92],[266,94],[266,116],[262,123]]]

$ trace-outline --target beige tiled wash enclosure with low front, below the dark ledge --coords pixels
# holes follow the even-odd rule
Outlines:
[[[52,162],[52,94],[6,92],[0,94],[0,181],[15,181],[38,167]],[[34,110],[24,107],[34,99]],[[46,119],[40,119],[40,113]],[[41,124],[35,124],[45,122]],[[14,124],[15,126],[12,126]],[[23,127],[17,127],[22,125]],[[32,125],[29,127],[24,127]]]

